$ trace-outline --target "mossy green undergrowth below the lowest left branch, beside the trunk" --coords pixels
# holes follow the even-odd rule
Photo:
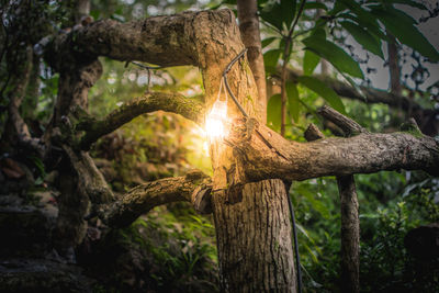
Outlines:
[[[157,207],[95,247],[90,270],[103,270],[100,290],[111,292],[217,292],[211,218],[189,204]],[[108,256],[112,259],[109,260]],[[105,291],[106,292],[106,291]]]

